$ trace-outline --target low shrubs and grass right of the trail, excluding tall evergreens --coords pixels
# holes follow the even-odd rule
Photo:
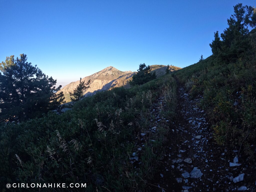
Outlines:
[[[238,58],[210,56],[174,76],[190,95],[202,94],[216,142],[255,159],[256,140],[256,31],[246,36],[248,47]]]

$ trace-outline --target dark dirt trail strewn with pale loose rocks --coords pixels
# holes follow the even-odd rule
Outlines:
[[[160,112],[155,110],[160,107],[153,106],[151,113],[158,119],[153,120],[152,131],[164,120],[170,132],[152,187],[162,192],[256,191],[255,164],[246,164],[246,157],[240,157],[239,148],[227,151],[215,143],[206,114],[198,107],[200,99],[200,96],[191,99],[179,87],[173,122],[161,118]],[[164,98],[158,100],[162,103]]]

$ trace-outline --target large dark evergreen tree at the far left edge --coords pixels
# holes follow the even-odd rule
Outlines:
[[[37,66],[27,62],[27,56],[6,57],[0,64],[0,121],[24,121],[39,117],[50,110],[60,110],[61,86],[46,76]]]

